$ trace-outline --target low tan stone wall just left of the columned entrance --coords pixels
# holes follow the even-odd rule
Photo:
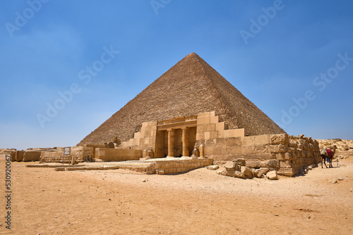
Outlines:
[[[105,161],[140,160],[142,150],[121,148],[95,148],[95,158]]]

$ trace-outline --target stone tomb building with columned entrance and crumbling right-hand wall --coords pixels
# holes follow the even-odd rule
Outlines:
[[[193,146],[202,145],[203,155],[216,162],[244,158],[247,167],[268,167],[288,176],[320,162],[318,142],[311,138],[288,134],[244,134],[244,128],[225,129],[225,122],[219,122],[215,112],[201,113],[144,122],[141,132],[122,142],[121,148],[145,150],[143,157],[149,148],[153,148],[154,158],[164,158],[190,156]]]

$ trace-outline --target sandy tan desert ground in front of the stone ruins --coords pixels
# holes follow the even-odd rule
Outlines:
[[[0,159],[1,234],[353,234],[353,156],[275,181],[205,168],[146,175],[15,162],[11,230]]]

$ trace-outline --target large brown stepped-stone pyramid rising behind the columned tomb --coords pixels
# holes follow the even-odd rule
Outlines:
[[[212,111],[226,127],[244,128],[249,136],[285,133],[200,56],[190,53],[85,136],[79,145],[102,144],[112,136],[127,141],[140,131],[143,122]]]

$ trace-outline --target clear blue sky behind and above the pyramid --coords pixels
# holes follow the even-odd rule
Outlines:
[[[75,146],[191,52],[288,134],[353,139],[352,11],[348,0],[0,1],[0,148]]]

